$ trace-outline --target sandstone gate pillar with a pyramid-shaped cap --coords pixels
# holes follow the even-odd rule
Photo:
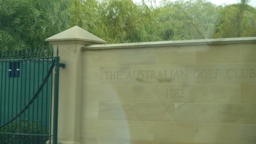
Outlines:
[[[78,26],[60,32],[46,41],[59,47],[60,62],[66,68],[60,68],[59,108],[58,108],[58,144],[81,144],[80,117],[82,94],[82,59],[80,50],[85,45],[105,44],[106,41],[90,34]]]

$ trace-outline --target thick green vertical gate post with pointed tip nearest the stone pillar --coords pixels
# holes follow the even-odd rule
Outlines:
[[[58,56],[58,46],[57,46],[57,56],[55,57],[55,77],[54,77],[54,112],[53,112],[53,144],[57,144],[58,140],[58,103],[59,103],[59,72],[60,68],[58,66],[60,62],[60,57]],[[56,66],[57,65],[57,66]]]

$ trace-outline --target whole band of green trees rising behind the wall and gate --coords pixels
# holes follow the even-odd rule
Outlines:
[[[46,38],[76,25],[110,44],[256,36],[248,2],[0,0],[0,51],[48,46]]]

